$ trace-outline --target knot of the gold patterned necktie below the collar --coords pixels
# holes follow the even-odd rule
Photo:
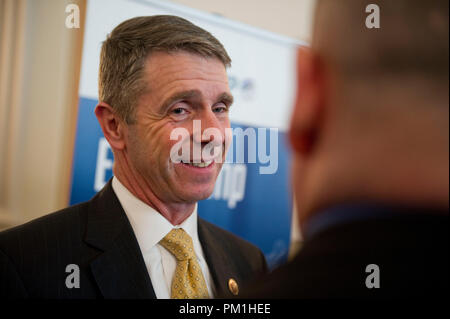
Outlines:
[[[172,229],[159,243],[177,260],[195,258],[191,236],[181,228]]]

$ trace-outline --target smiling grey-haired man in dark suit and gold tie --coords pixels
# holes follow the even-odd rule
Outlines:
[[[228,54],[182,18],[151,16],[117,26],[100,60],[95,114],[114,177],[88,202],[0,233],[0,295],[237,294],[266,271],[264,256],[198,218],[196,206],[225,158]]]

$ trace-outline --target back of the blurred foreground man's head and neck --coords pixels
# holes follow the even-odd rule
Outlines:
[[[301,223],[345,202],[448,208],[448,6],[318,1],[290,133]]]

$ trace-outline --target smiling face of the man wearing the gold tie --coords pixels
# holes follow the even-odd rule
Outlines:
[[[207,198],[214,189],[225,152],[206,167],[174,163],[171,150],[181,138],[171,140],[170,136],[177,128],[189,132],[182,143],[189,144],[191,162],[193,143],[203,148],[214,139],[198,139],[205,129],[217,129],[225,141],[232,102],[225,66],[215,58],[156,52],[148,58],[144,76],[147,92],[137,106],[135,124],[128,126],[126,143],[130,165],[146,184],[141,187],[149,188],[165,203]],[[193,132],[194,120],[201,124],[198,134]]]

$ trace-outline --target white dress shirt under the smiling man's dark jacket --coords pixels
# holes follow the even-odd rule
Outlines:
[[[172,229],[183,228],[192,238],[197,261],[202,268],[210,297],[213,297],[211,274],[203,255],[197,232],[197,204],[194,212],[183,223],[173,226],[158,211],[135,197],[117,177],[113,177],[112,188],[125,211],[139,243],[145,266],[152,281],[156,298],[170,299],[172,277],[176,258],[159,244]]]

